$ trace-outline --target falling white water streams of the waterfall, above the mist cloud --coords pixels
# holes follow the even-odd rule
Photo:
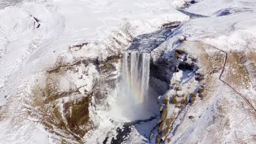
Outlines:
[[[122,81],[120,85],[124,100],[133,104],[147,103],[149,88],[150,54],[139,51],[124,52]]]

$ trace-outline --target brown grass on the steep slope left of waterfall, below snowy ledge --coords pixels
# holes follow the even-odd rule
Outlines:
[[[45,83],[33,90],[33,110],[28,111],[28,115],[39,119],[39,123],[45,126],[45,129],[61,137],[63,143],[66,140],[72,140],[77,143],[83,143],[83,136],[91,129],[89,118],[89,105],[92,92],[83,95],[78,88],[71,88],[68,91],[61,91],[59,81],[65,70],[74,69],[75,63],[70,67],[57,67],[53,71],[45,74]],[[75,95],[75,97],[74,97]],[[72,100],[65,103],[65,111],[62,111],[62,104],[65,97]]]

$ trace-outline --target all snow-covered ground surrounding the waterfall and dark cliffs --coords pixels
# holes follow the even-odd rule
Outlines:
[[[36,109],[33,107],[36,99],[33,89],[37,86],[42,88],[48,81],[46,71],[58,64],[69,67],[68,64],[81,59],[106,61],[108,57],[125,51],[137,35],[152,33],[164,23],[173,21],[181,21],[182,24],[174,29],[171,37],[152,51],[153,61],[161,55],[168,59],[173,50],[181,47],[189,55],[198,57],[200,71],[207,75],[208,68],[212,68],[209,66],[209,57],[214,52],[219,52],[207,46],[217,47],[228,53],[223,80],[245,95],[252,106],[256,107],[256,2],[200,0],[184,7],[186,2],[189,1],[1,1],[0,143],[61,143],[65,138],[45,130],[45,125],[40,123],[42,119],[28,115],[28,111]],[[182,7],[189,12],[187,15],[177,10]],[[194,42],[179,45],[177,41],[181,38]],[[82,46],[78,46],[80,44]],[[234,52],[241,57],[237,58]],[[236,65],[242,58],[244,63],[237,68]],[[119,67],[120,62],[115,64]],[[61,92],[77,88],[82,94],[89,93],[94,88],[95,79],[102,76],[91,63],[86,67],[75,66],[74,69],[77,73],[67,68],[61,76],[51,76],[58,80]],[[247,73],[240,69],[246,69]],[[193,92],[200,85],[190,72],[174,73],[170,80],[170,83],[182,85],[183,89],[190,88],[183,90],[181,94]],[[197,98],[195,105],[185,107],[182,115],[177,117],[178,120],[172,125],[175,131],[169,131],[166,143],[255,142],[255,111],[237,93],[218,80],[219,73],[209,76],[209,83],[204,83],[207,88],[211,87],[208,97],[203,101]],[[240,78],[238,74],[241,74]],[[118,71],[114,71],[112,75],[115,75],[112,78],[117,79]],[[234,80],[236,76],[239,80]],[[108,91],[108,95],[115,95],[112,90]],[[168,92],[172,93],[173,89],[168,90],[165,95]],[[59,98],[56,100],[57,105],[65,111],[63,103],[73,97],[76,96]],[[113,97],[106,99],[112,106],[115,105]],[[82,142],[102,143],[106,136],[117,135],[115,129],[121,127],[121,122],[131,120],[116,115],[120,111],[118,109],[104,108],[106,107],[99,106],[97,110],[93,106],[89,108],[91,121],[97,127],[85,134]],[[173,112],[178,111],[173,105],[167,108]],[[168,116],[171,114],[168,113]],[[190,115],[195,118],[191,120],[188,118]],[[113,123],[109,121],[111,118],[122,121]],[[155,143],[156,135],[152,141],[148,140],[155,123],[156,120],[135,125],[127,143]],[[155,129],[154,134],[157,133]],[[78,143],[74,139],[65,140]]]

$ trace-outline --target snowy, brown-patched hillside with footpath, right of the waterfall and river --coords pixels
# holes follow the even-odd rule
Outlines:
[[[152,52],[181,68],[160,97],[156,141],[255,143],[255,1],[206,0],[184,10],[193,19]],[[193,59],[199,68],[187,74]]]

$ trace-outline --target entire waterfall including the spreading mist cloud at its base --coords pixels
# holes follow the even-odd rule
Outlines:
[[[121,79],[117,83],[117,105],[130,120],[149,118],[158,112],[157,98],[149,93],[150,53],[123,53]],[[150,98],[152,97],[152,98]]]

